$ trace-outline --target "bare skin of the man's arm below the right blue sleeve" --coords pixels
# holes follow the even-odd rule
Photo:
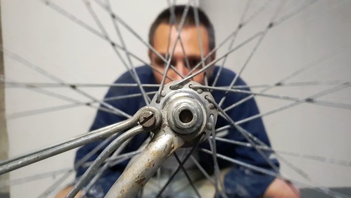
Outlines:
[[[299,189],[295,188],[288,181],[275,179],[264,192],[264,198],[298,198],[300,197]]]

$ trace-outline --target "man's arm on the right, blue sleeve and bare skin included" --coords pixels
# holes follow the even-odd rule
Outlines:
[[[221,72],[221,78],[217,82],[218,86],[228,86],[228,81],[230,82],[233,77],[235,77],[235,74],[230,70]],[[238,78],[235,85],[246,86],[246,83],[241,78]],[[249,89],[247,88],[246,90]],[[221,92],[218,92],[215,97],[221,99]],[[246,97],[248,97],[248,95],[228,93],[226,95],[226,101],[228,102],[224,102],[223,106],[226,108],[227,106],[231,106],[232,103],[237,103]],[[240,106],[228,110],[227,114],[235,122],[242,121],[248,117],[259,115],[259,108],[255,99],[249,99],[240,103]],[[217,123],[220,123],[220,126],[227,124],[225,122],[221,123],[220,117]],[[264,142],[266,146],[270,146],[270,141],[266,134],[262,118],[258,117],[251,121],[246,121],[240,126],[247,132],[250,132],[251,135]],[[244,137],[240,131],[235,130],[235,128],[229,130],[226,138],[249,143],[246,137]],[[262,152],[264,152],[266,157],[262,157],[261,153],[257,152],[255,148],[226,145],[218,142],[217,152],[266,170],[275,172],[275,169],[279,168],[277,159],[271,158],[271,153],[265,150],[262,150]],[[272,164],[274,164],[275,168],[271,166]],[[235,166],[235,168],[232,168],[231,171],[228,172],[224,180],[224,186],[226,186],[226,192],[228,192],[229,195],[233,195],[233,197],[299,197],[299,191],[293,187],[292,184],[287,184],[286,181],[281,179],[276,179],[275,177],[239,166]]]

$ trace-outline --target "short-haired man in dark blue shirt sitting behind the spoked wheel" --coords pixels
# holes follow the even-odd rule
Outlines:
[[[215,35],[211,21],[209,21],[206,14],[198,9],[198,17],[200,21],[200,26],[197,27],[195,23],[194,8],[190,7],[188,11],[187,18],[184,21],[184,26],[180,32],[180,39],[184,45],[184,52],[180,42],[177,42],[178,37],[178,28],[181,21],[181,16],[184,11],[184,6],[174,6],[173,8],[162,11],[156,20],[153,22],[150,32],[149,32],[149,43],[153,48],[159,52],[162,57],[167,58],[173,48],[173,56],[171,59],[171,65],[174,66],[175,70],[170,69],[167,72],[166,83],[173,80],[182,79],[180,75],[186,76],[189,73],[189,70],[193,69],[200,61],[201,55],[206,57],[209,55],[211,50],[215,48]],[[173,10],[171,14],[170,10]],[[170,23],[171,21],[171,23]],[[200,35],[200,39],[199,39]],[[167,42],[169,41],[169,42]],[[202,46],[202,48],[200,48]],[[149,58],[151,61],[151,66],[156,68],[156,70],[164,72],[165,63],[161,57],[156,55],[156,53],[149,50]],[[210,63],[215,59],[215,54],[210,55],[206,59],[206,63]],[[198,68],[197,70],[199,70]],[[162,75],[156,70],[152,70],[149,66],[142,66],[136,68],[138,77],[142,83],[161,83]],[[196,70],[195,70],[196,71]],[[213,83],[214,77],[217,74],[218,67],[211,66],[206,72],[200,73],[193,77],[193,81],[204,84],[207,78],[208,83],[211,85]],[[220,78],[217,81],[216,86],[228,86],[235,74],[230,70],[222,70],[220,73]],[[124,75],[119,77],[116,83],[135,83],[131,74],[126,72]],[[235,85],[245,85],[242,79],[238,78]],[[146,91],[152,91],[153,88],[146,88]],[[110,88],[109,92],[105,98],[115,97],[118,95],[130,95],[138,93],[140,90],[138,88]],[[220,99],[224,96],[224,92],[213,91],[213,97],[215,101],[219,102]],[[224,101],[222,107],[230,106],[236,101],[240,101],[247,95],[242,94],[233,94],[229,93],[226,95],[226,100]],[[122,99],[118,101],[110,101],[112,106],[127,112],[129,115],[134,115],[134,113],[140,109],[142,106],[145,106],[145,101],[140,97],[137,99]],[[257,105],[254,99],[250,99],[241,106],[234,108],[227,112],[228,115],[234,120],[238,121],[246,117],[251,117],[259,113]],[[112,115],[108,112],[98,111],[96,119],[92,125],[91,130],[96,130],[104,126],[108,126],[112,123],[122,121],[124,117],[117,115]],[[228,122],[222,119],[221,117],[217,120],[217,127],[225,126]],[[248,121],[242,125],[243,128],[251,132],[255,137],[270,145],[268,137],[266,135],[262,119],[255,119],[253,121]],[[231,128],[228,130],[228,135],[226,138],[236,140],[236,141],[246,141],[247,140],[240,135],[240,132]],[[143,141],[147,139],[147,134],[141,134],[132,139],[123,152],[131,152],[139,148],[142,145]],[[80,148],[76,154],[76,161],[82,159],[89,151],[93,150],[101,141],[90,143],[87,146]],[[209,143],[202,143],[201,147],[209,148]],[[254,166],[259,166],[260,168],[265,168],[270,171],[275,171],[270,164],[259,155],[259,153],[254,148],[248,148],[244,146],[234,146],[231,143],[217,142],[217,152],[244,161],[247,164],[253,164]],[[98,153],[91,157],[89,161],[96,159]],[[210,172],[213,172],[213,159],[211,155],[198,152],[198,160],[200,164]],[[104,195],[107,190],[110,188],[114,181],[118,179],[121,172],[123,172],[125,166],[127,166],[128,161],[124,161],[121,164],[117,164],[105,171],[103,177],[101,177],[93,189],[88,193],[88,197],[100,197]],[[259,172],[249,170],[241,166],[233,166],[233,164],[228,163],[228,161],[218,159],[220,168],[232,167],[228,170],[224,177],[224,188],[228,197],[299,197],[299,192],[288,182],[275,177],[270,177],[268,175],[263,175]],[[279,166],[276,160],[272,160],[272,163],[275,166]],[[80,177],[85,172],[85,168],[78,167],[77,177]],[[213,196],[213,195],[212,195]]]

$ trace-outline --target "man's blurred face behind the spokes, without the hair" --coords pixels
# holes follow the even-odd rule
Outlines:
[[[204,57],[209,54],[209,34],[207,33],[206,28],[204,26],[200,26],[197,28],[196,26],[184,26],[182,32],[180,33],[180,38],[182,39],[182,43],[184,46],[184,51],[182,50],[182,46],[180,41],[175,45],[175,41],[177,38],[177,26],[169,26],[167,23],[161,23],[158,28],[156,28],[155,34],[153,35],[153,48],[157,50],[160,55],[166,57],[170,55],[173,47],[175,45],[175,50],[173,53],[173,57],[171,59],[171,65],[175,67],[175,70],[178,70],[180,74],[186,77],[189,74],[189,68],[186,63],[186,58],[189,60],[190,69],[194,68],[201,61],[201,51],[200,51],[200,41],[199,41],[199,29],[200,29],[200,37],[202,42],[202,52],[204,53]],[[171,31],[171,37],[169,38],[169,34]],[[168,44],[168,41],[170,43]],[[167,53],[168,50],[168,53]],[[158,55],[151,52],[149,50],[149,57],[151,61],[151,66],[157,68],[160,72],[164,72],[166,70],[165,63],[162,61]],[[213,59],[214,56],[212,56]],[[206,63],[209,63],[211,58],[206,60]],[[206,64],[205,63],[205,64]],[[200,70],[199,67],[196,71]],[[211,73],[211,71],[207,71]],[[156,78],[156,83],[161,83],[163,75],[159,72],[153,70],[153,75]],[[182,77],[177,74],[174,70],[169,68],[167,72],[167,77],[165,83],[169,83],[171,79],[180,80]],[[193,77],[193,81],[204,84],[204,72]]]

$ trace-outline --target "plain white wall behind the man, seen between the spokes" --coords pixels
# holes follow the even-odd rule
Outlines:
[[[56,1],[55,1],[56,2]],[[255,1],[261,2],[261,1]],[[292,1],[289,1],[292,5]],[[209,12],[217,30],[217,41],[235,28],[238,17],[244,8],[242,1],[201,1],[201,6]],[[220,6],[219,3],[227,4]],[[273,2],[274,3],[274,2]],[[275,2],[276,3],[276,2]],[[58,1],[68,12],[74,13],[90,26],[98,28],[82,1]],[[94,3],[93,3],[94,4]],[[120,1],[114,4],[114,10],[140,34],[147,39],[147,30],[156,14],[167,6],[167,1]],[[232,5],[233,4],[233,5]],[[253,3],[253,10],[260,4]],[[69,19],[54,12],[41,1],[1,1],[4,48],[15,52],[24,59],[53,73],[66,82],[72,83],[111,83],[125,71],[108,43],[94,34],[76,26]],[[107,29],[114,34],[110,19],[103,10],[94,6]],[[326,59],[319,70],[301,75],[292,81],[312,81],[317,79],[349,80],[350,72],[350,1],[320,1],[293,19],[268,32],[262,46],[253,57],[243,78],[251,84],[274,83],[307,63],[323,57],[338,46],[343,53]],[[249,23],[246,30],[240,32],[237,43],[264,26],[262,21],[272,14],[274,6],[268,6],[267,12],[256,21]],[[284,8],[286,9],[286,8]],[[251,10],[251,12],[253,12]],[[282,10],[283,12],[284,10]],[[286,10],[285,10],[286,11]],[[227,19],[224,17],[228,14]],[[233,24],[229,26],[228,24]],[[260,25],[260,26],[259,26]],[[228,27],[231,29],[228,30]],[[123,28],[121,28],[123,29]],[[114,34],[115,35],[115,34]],[[127,31],[123,30],[127,48],[147,61],[147,48]],[[114,37],[116,40],[116,37]],[[349,46],[349,48],[345,48]],[[251,52],[252,45],[237,52],[228,59],[227,66],[238,70]],[[223,51],[220,51],[222,53]],[[138,61],[134,61],[139,65]],[[6,77],[21,82],[52,82],[50,79],[30,70],[23,64],[5,57]],[[332,66],[332,67],[330,67]],[[322,87],[326,88],[326,87]],[[313,90],[289,88],[273,90],[273,94],[304,97],[318,92]],[[85,101],[84,97],[63,88],[50,89],[74,99]],[[96,98],[102,98],[107,88],[85,88]],[[337,92],[325,100],[350,101],[350,89]],[[259,99],[262,112],[281,106],[286,102],[275,99]],[[47,97],[25,89],[6,89],[6,114],[23,110],[34,110],[50,106],[59,106],[68,102]],[[34,150],[57,141],[87,132],[96,110],[87,107],[72,108],[49,112],[31,117],[8,119],[10,136],[10,155],[15,156],[28,150]],[[265,117],[270,138],[275,148],[303,154],[321,155],[351,161],[348,125],[349,110],[337,110],[319,106],[301,105],[283,113]],[[27,168],[12,172],[11,179],[18,179],[37,172],[50,172],[72,167],[74,152],[47,159]],[[325,163],[310,163],[289,157],[290,161],[307,170],[314,181],[326,186],[350,186],[349,168],[331,166]],[[286,167],[283,168],[293,179],[300,179]],[[323,173],[323,174],[321,174]],[[41,189],[50,186],[58,177],[49,177],[21,184],[11,188],[12,197],[36,197]],[[303,181],[303,180],[301,180]]]

